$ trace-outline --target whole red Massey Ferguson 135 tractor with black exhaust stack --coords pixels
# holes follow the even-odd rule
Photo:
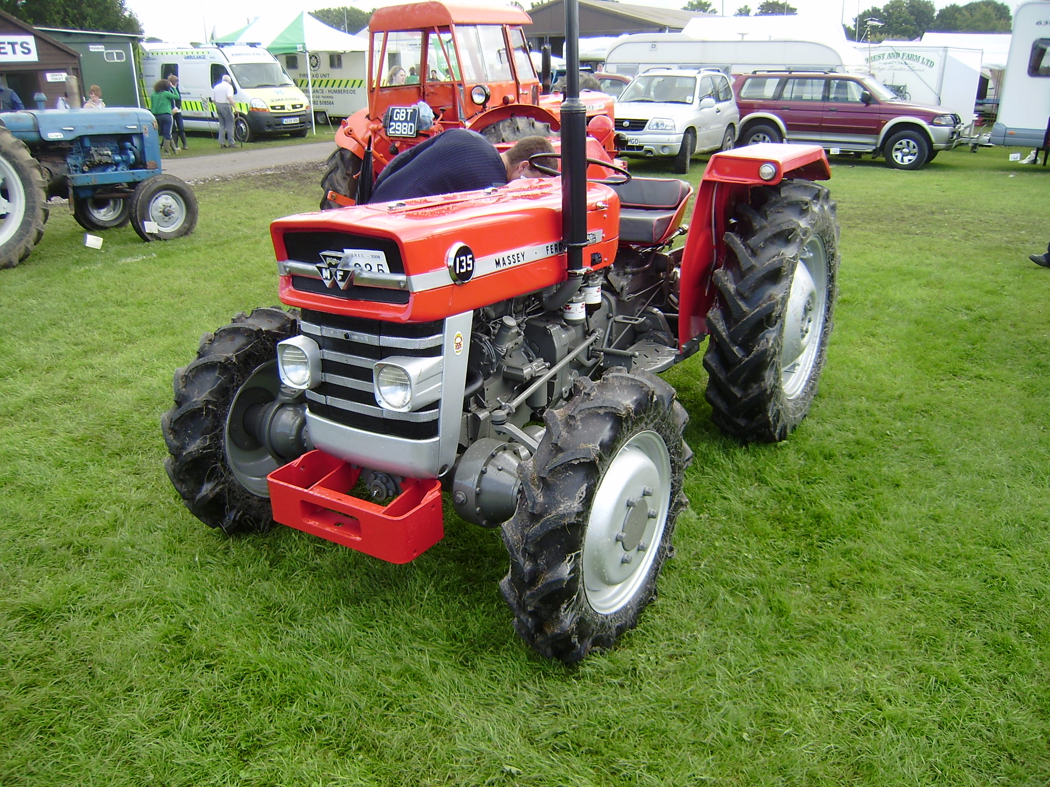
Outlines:
[[[716,153],[687,228],[681,180],[587,180],[572,84],[562,120],[560,178],[274,221],[290,310],[206,334],[162,426],[186,506],[231,534],[276,522],[401,563],[443,537],[447,492],[501,532],[518,633],[573,662],[635,624],[687,505],[657,375],[708,339],[717,425],[786,438],[839,228],[819,147]]]

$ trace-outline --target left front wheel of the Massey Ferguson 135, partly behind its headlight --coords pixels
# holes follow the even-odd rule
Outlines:
[[[277,342],[297,333],[297,315],[276,306],[242,313],[205,334],[196,359],[175,371],[174,406],[161,419],[171,454],[164,467],[209,527],[229,534],[273,527],[266,476],[302,451],[275,459],[255,433],[267,405],[282,396]]]

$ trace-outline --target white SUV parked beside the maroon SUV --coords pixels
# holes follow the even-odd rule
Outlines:
[[[620,155],[673,157],[679,174],[694,153],[731,149],[740,123],[729,78],[715,69],[639,73],[616,99],[615,113]]]

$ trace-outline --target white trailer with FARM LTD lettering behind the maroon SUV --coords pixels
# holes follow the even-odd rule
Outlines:
[[[907,41],[858,45],[872,76],[904,101],[944,107],[969,122],[981,82],[981,50]]]

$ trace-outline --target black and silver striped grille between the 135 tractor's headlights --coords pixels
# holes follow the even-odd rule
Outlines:
[[[299,329],[321,348],[321,384],[307,391],[311,412],[355,429],[410,440],[438,435],[439,402],[415,412],[376,403],[376,361],[392,356],[440,356],[444,324],[380,322],[303,310]]]

